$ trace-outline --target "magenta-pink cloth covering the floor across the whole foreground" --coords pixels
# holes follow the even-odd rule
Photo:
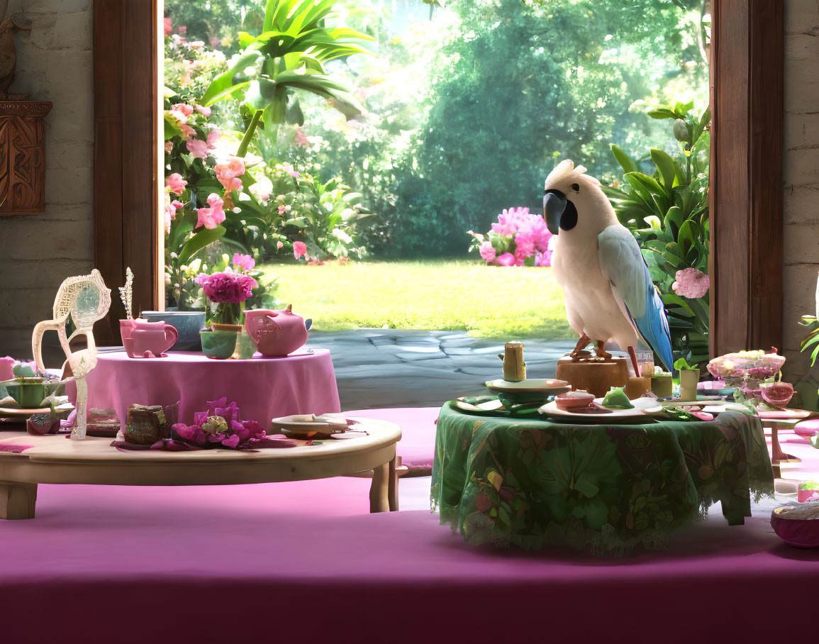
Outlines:
[[[819,551],[765,519],[600,560],[474,548],[369,481],[40,485],[0,521],[0,641],[799,642]],[[799,610],[799,609],[797,609]],[[804,637],[804,640],[800,640]]]

